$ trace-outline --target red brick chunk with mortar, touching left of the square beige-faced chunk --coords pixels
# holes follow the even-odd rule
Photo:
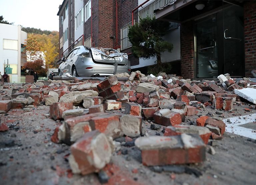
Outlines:
[[[92,130],[99,130],[112,138],[121,137],[123,132],[119,121],[120,116],[118,114],[96,116],[89,121],[89,125]]]

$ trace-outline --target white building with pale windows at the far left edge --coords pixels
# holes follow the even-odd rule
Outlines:
[[[10,82],[17,82],[21,76],[21,48],[25,44],[27,33],[21,31],[20,25],[0,23],[0,71],[4,74],[4,62],[9,66],[6,73],[10,76]]]

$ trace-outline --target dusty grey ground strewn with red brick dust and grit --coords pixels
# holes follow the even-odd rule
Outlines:
[[[11,95],[11,88],[19,85],[9,84],[9,89],[0,86],[1,96]],[[218,111],[222,115],[216,114],[217,110],[211,107],[201,108],[197,115],[187,116],[183,124],[196,124],[198,115],[214,114],[212,116],[229,118],[255,113],[254,105],[250,112],[244,110],[250,106],[248,103],[234,105],[233,111]],[[97,174],[72,176],[68,173],[70,167],[65,156],[70,153],[69,146],[51,142],[50,137],[60,122],[47,117],[48,113],[49,106],[43,105],[31,112],[11,109],[6,114],[0,114],[1,123],[13,125],[9,131],[0,132],[0,184],[100,184]],[[122,111],[116,113],[122,114]],[[163,135],[163,127],[151,130],[150,122],[143,121],[143,130],[150,135],[156,132]],[[207,153],[204,163],[186,165],[202,173],[196,177],[187,173],[154,172],[141,164],[139,149],[122,146],[121,151],[127,149],[128,154],[113,154],[114,176],[109,184],[255,184],[254,140],[226,132],[213,147],[216,154]],[[133,173],[134,169],[138,172]]]

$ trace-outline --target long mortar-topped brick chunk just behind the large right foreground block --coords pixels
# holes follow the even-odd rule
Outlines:
[[[181,134],[198,134],[205,144],[212,135],[212,132],[206,127],[199,127],[194,125],[174,125],[165,128],[164,136],[176,136]]]

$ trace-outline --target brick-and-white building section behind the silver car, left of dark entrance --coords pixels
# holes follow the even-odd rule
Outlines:
[[[120,48],[128,54],[132,69],[153,65],[156,58],[144,60],[132,55],[128,29],[139,16],[153,16],[154,9],[171,0],[64,0],[59,6],[59,57],[66,56],[74,47]],[[145,3],[144,3],[145,2]],[[143,6],[139,6],[143,4]],[[135,10],[134,10],[135,9]],[[134,10],[134,11],[133,11]],[[175,35],[175,37],[172,37]],[[176,24],[166,37],[176,47],[172,53],[164,53],[162,61],[180,60],[179,28]]]

